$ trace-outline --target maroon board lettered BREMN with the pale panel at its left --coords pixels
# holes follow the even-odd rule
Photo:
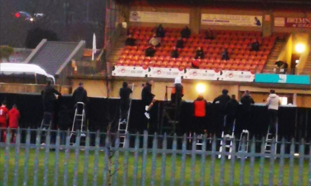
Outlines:
[[[311,28],[311,18],[274,17],[274,26]]]

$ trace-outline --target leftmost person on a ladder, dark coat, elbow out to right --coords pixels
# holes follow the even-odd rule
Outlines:
[[[48,80],[47,85],[44,86],[41,91],[42,95],[42,103],[43,103],[43,111],[52,113],[54,100],[56,99],[55,94],[62,95],[59,91],[57,91],[52,85],[52,81]]]

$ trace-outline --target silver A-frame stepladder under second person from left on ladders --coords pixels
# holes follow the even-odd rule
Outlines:
[[[72,137],[76,135],[77,131],[81,131],[81,137],[85,137],[85,131],[87,130],[86,126],[86,114],[85,114],[85,104],[83,102],[77,102],[75,105],[75,115],[73,118],[70,140],[72,141]]]

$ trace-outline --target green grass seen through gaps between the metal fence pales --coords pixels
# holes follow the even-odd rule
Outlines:
[[[103,169],[104,169],[104,154],[102,151],[99,152],[99,160],[96,162],[98,164],[98,174],[97,174],[97,185],[102,185],[103,182]],[[2,147],[0,148],[0,183],[3,181],[4,178],[4,154],[5,149]],[[129,164],[128,164],[128,179],[127,183],[128,185],[132,185],[133,180],[133,165],[134,165],[134,154],[132,152],[129,153]],[[138,160],[138,174],[137,174],[137,185],[140,184],[141,180],[141,165],[142,165],[142,154],[139,153],[139,160]],[[43,175],[44,175],[44,149],[40,149],[39,153],[39,169],[38,169],[38,184],[37,185],[43,185]],[[49,185],[52,185],[55,180],[53,180],[54,175],[54,161],[55,161],[55,152],[50,151],[49,153],[49,174],[48,174],[48,183]],[[30,156],[29,156],[29,168],[28,168],[28,183],[29,185],[33,185],[34,181],[34,164],[35,164],[35,150],[30,150]],[[64,175],[64,160],[65,160],[65,152],[61,151],[59,153],[59,176],[58,176],[58,185],[63,185],[63,175]],[[157,156],[157,170],[156,170],[156,183],[155,185],[160,185],[161,181],[161,160],[162,156],[161,154],[158,154]],[[166,159],[166,170],[165,170],[165,185],[170,184],[171,180],[171,169],[172,169],[172,163],[171,163],[171,156],[167,155]],[[9,185],[12,185],[14,180],[14,165],[15,165],[15,151],[14,149],[10,149],[10,159],[9,159]],[[278,171],[279,171],[279,159],[276,159],[273,169],[273,179],[274,179],[274,185],[277,185],[277,178],[278,178]],[[83,165],[84,165],[84,151],[80,151],[79,153],[79,160],[78,162],[78,185],[82,185],[83,183]],[[89,168],[88,168],[88,185],[91,185],[92,183],[92,177],[93,177],[93,171],[94,171],[94,152],[90,152],[89,156]],[[114,162],[114,160],[112,161]],[[24,175],[24,163],[25,163],[25,149],[21,149],[20,151],[20,159],[19,159],[19,178],[18,178],[18,184],[22,185],[23,181],[23,175]],[[68,161],[68,185],[72,185],[73,182],[73,170],[74,170],[74,152],[70,151],[69,161]],[[123,154],[120,154],[119,157],[119,164],[123,164]],[[181,174],[181,156],[178,155],[176,159],[176,174],[175,179],[176,185],[180,184],[180,174]],[[205,163],[205,185],[209,185],[210,180],[210,164],[211,164],[211,158],[207,157],[206,163]],[[268,185],[268,172],[269,172],[269,159],[265,159],[264,162],[264,184]],[[226,159],[225,161],[225,167],[224,167],[224,174],[225,174],[225,185],[228,185],[229,183],[229,168],[230,166],[230,160]],[[245,168],[244,168],[244,184],[248,185],[249,183],[249,168],[250,161],[249,158],[245,161]],[[201,169],[201,156],[196,157],[196,165],[195,165],[195,185],[199,185],[200,183],[200,169]],[[185,185],[190,184],[190,178],[191,178],[191,156],[187,155],[186,158],[186,170],[185,170]],[[294,161],[294,169],[293,169],[293,184],[298,184],[298,160],[295,159]],[[122,174],[123,174],[123,167],[121,167],[117,171],[117,185],[121,185],[122,183]],[[150,178],[151,178],[151,154],[147,155],[147,166],[146,166],[146,184],[150,185]],[[288,174],[289,174],[289,161],[285,160],[284,165],[284,179],[283,179],[283,185],[288,184]],[[303,185],[307,185],[307,174],[308,174],[308,164],[305,160],[303,164]],[[235,165],[234,165],[234,185],[239,184],[239,175],[240,175],[240,159],[236,159]],[[216,159],[215,162],[215,185],[219,184],[220,180],[220,159]],[[259,183],[259,159],[255,160],[254,165],[254,184],[258,185]]]

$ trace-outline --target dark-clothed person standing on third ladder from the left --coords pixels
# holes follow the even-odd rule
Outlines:
[[[127,111],[129,108],[129,94],[132,93],[127,85],[127,82],[123,82],[122,88],[120,88],[120,110],[121,110],[121,121],[126,122]]]

